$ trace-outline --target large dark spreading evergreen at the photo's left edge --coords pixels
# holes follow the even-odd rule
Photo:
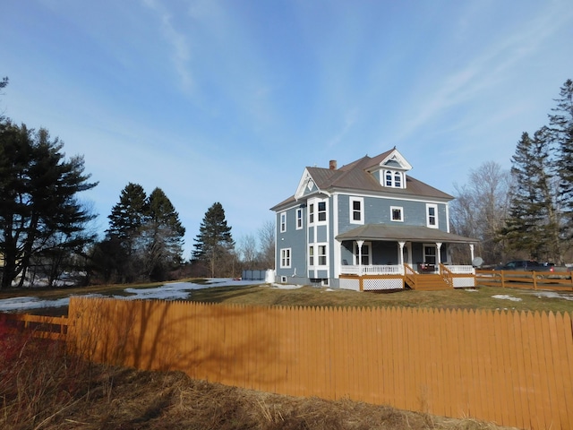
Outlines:
[[[76,194],[97,183],[88,182],[80,156],[64,159],[63,147],[46,129],[34,132],[0,120],[2,288],[18,276],[22,286],[33,259],[59,259],[93,239],[85,227],[95,215]]]

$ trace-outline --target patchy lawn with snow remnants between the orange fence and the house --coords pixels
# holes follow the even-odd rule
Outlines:
[[[204,283],[205,280],[189,280]],[[100,294],[129,296],[125,288],[157,288],[162,284],[108,285],[89,288],[22,289],[0,292],[0,300],[33,296],[54,300],[71,295]],[[230,286],[192,290],[187,300],[206,303],[283,306],[357,306],[357,307],[432,307],[439,309],[503,309],[517,311],[573,312],[573,293],[558,295],[552,291],[522,288],[458,288],[445,291],[401,290],[393,292],[355,292],[344,289],[272,288],[269,285]],[[568,297],[569,299],[565,298]],[[27,311],[31,314],[67,314],[67,307]]]

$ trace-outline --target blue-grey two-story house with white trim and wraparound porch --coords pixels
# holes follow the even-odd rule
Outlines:
[[[396,148],[341,168],[334,160],[305,168],[295,194],[271,208],[277,280],[356,290],[474,286],[472,265],[451,264],[450,245],[468,245],[473,260],[477,240],[449,232],[453,197],[411,168]]]

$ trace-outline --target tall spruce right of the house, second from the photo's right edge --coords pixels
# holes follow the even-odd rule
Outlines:
[[[523,133],[517,142],[511,160],[514,186],[510,191],[509,218],[500,236],[515,252],[525,251],[527,257],[560,260],[559,249],[552,240],[557,215],[548,134],[549,130],[543,127],[533,139]]]

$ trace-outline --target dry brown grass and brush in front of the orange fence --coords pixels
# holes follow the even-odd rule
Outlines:
[[[194,381],[181,372],[93,365],[57,342],[2,330],[0,428],[493,430],[351,400],[280,396]]]

